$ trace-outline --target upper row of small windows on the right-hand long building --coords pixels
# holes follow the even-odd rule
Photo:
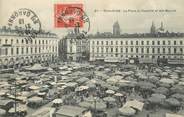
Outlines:
[[[96,42],[96,43],[95,43]],[[93,45],[183,45],[183,41],[92,41]]]

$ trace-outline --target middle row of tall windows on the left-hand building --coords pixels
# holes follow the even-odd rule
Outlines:
[[[9,51],[10,49],[10,51]],[[33,53],[41,53],[41,47],[39,48],[34,48],[34,51],[33,51],[33,48],[31,47],[30,48],[30,54],[33,54]],[[51,48],[50,48],[51,49]],[[42,49],[43,50],[43,49]],[[16,55],[19,55],[19,54],[28,54],[29,53],[29,48],[26,47],[26,48],[0,48],[0,55],[14,55],[14,51],[16,53]],[[10,52],[10,53],[9,53]],[[57,52],[57,47],[52,47],[52,52]]]

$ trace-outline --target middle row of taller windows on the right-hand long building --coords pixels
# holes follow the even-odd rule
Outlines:
[[[128,52],[136,52],[136,53],[155,53],[157,51],[157,53],[161,53],[161,50],[162,50],[162,53],[165,54],[166,52],[168,54],[171,53],[171,48],[125,48],[125,52],[128,53]],[[120,48],[120,51],[123,52],[123,48]],[[95,48],[92,48],[92,53],[95,52]],[[97,47],[96,48],[96,52],[99,53],[104,53],[104,52],[119,52],[119,49],[118,48],[104,48],[104,47]],[[173,48],[173,52],[174,54],[183,54],[183,48]]]

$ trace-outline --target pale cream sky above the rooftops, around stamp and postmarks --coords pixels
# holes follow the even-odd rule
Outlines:
[[[7,25],[15,10],[28,8],[37,14],[42,29],[64,36],[70,29],[54,27],[54,4],[65,3],[84,5],[91,24],[89,33],[112,32],[116,21],[121,33],[147,33],[152,21],[157,28],[162,21],[169,32],[184,32],[184,0],[0,0],[0,26]],[[120,12],[115,12],[118,10]]]

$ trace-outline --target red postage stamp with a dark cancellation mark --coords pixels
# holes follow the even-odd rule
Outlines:
[[[55,4],[54,15],[56,28],[83,27],[83,4]]]

